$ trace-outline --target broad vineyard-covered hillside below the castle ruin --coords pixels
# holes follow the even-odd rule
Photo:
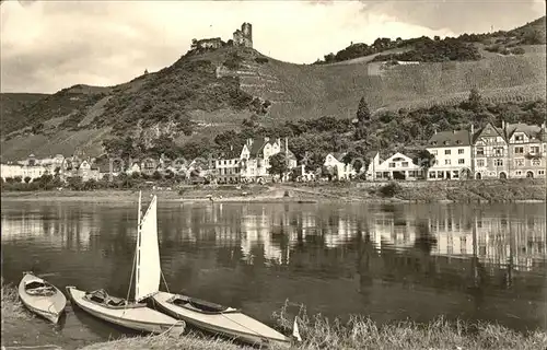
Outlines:
[[[138,153],[212,139],[249,119],[263,126],[323,116],[348,119],[362,97],[373,114],[457,105],[472,89],[486,102],[536,101],[545,98],[546,54],[544,44],[529,45],[531,36],[520,34],[531,27],[545,33],[545,18],[498,36],[477,36],[480,58],[394,65],[386,49],[368,59],[294,65],[225,46],[191,49],[167,68],[116,86],[75,85],[18,107],[4,106],[11,94],[2,94],[2,156],[98,155],[103,143],[119,148],[127,137]],[[485,49],[487,39],[496,43],[501,36],[525,52]]]

